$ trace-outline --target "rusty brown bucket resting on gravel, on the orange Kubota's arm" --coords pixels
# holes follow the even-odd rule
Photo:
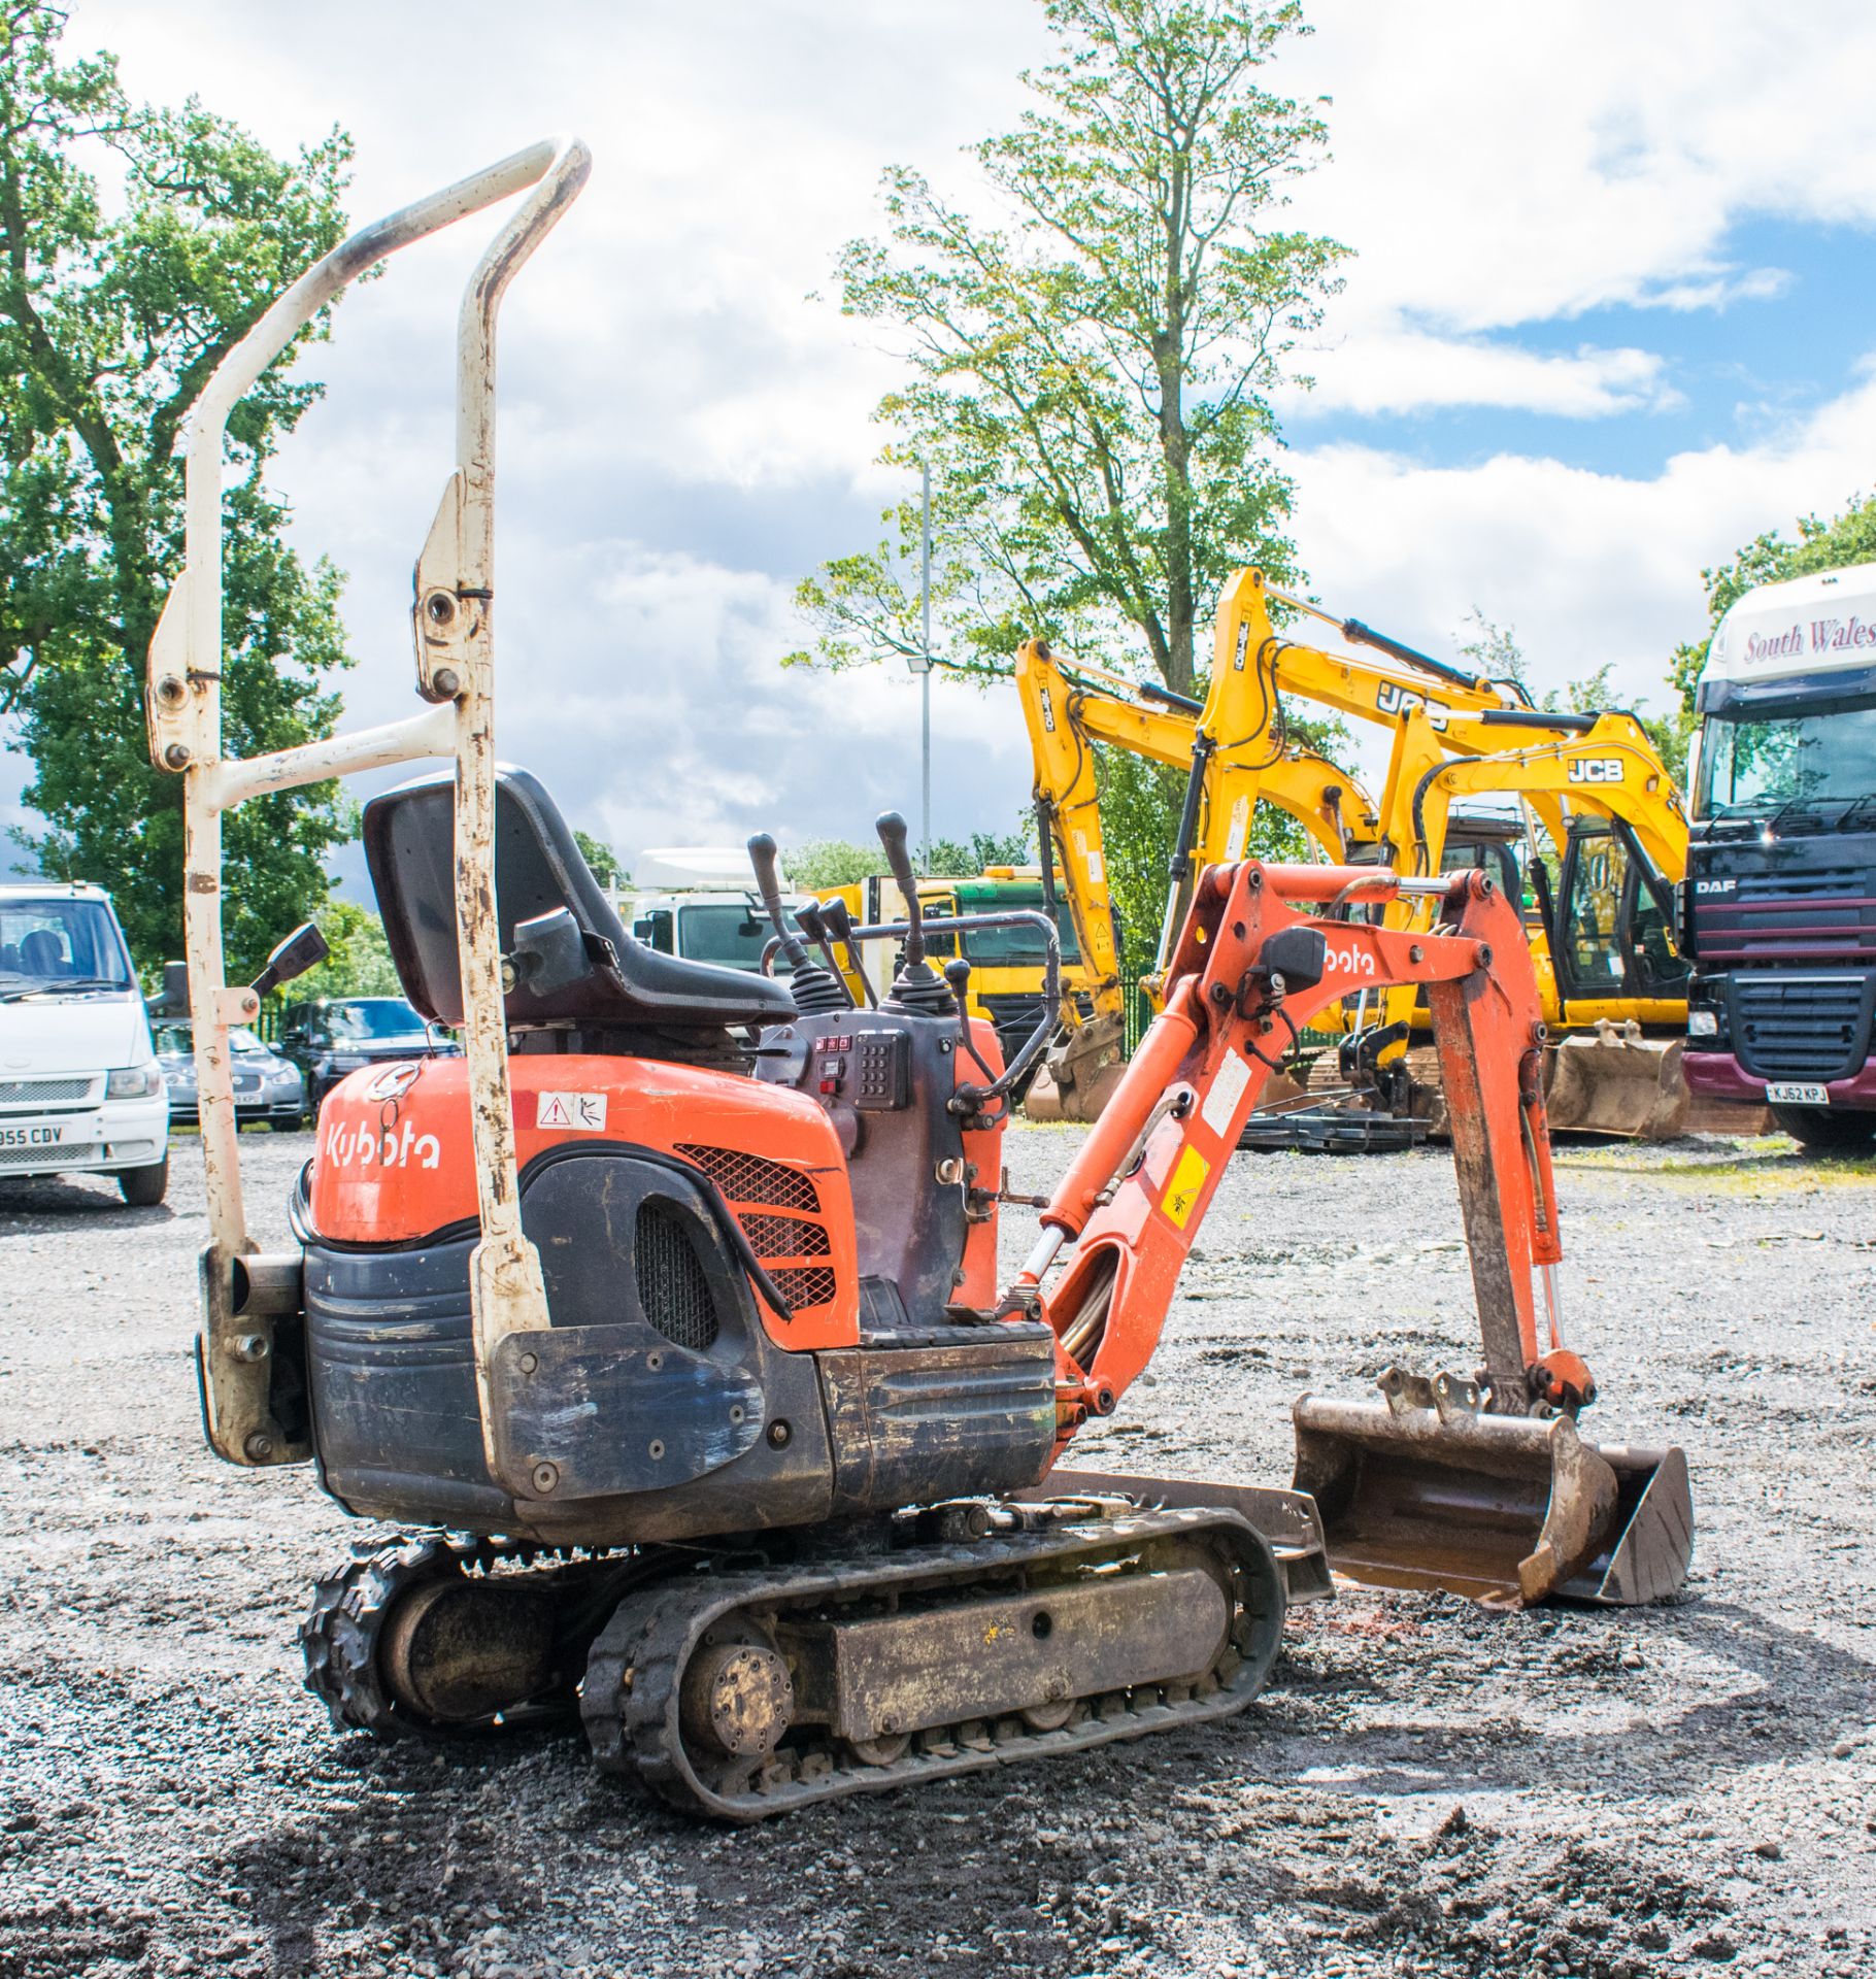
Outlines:
[[[1694,1504],[1678,1449],[1597,1449],[1567,1415],[1486,1415],[1451,1375],[1389,1369],[1381,1391],[1304,1395],[1292,1411],[1294,1488],[1316,1500],[1336,1573],[1488,1607],[1639,1607],[1686,1579]]]

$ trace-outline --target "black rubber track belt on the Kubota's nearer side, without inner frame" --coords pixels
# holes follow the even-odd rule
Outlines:
[[[815,1801],[843,1799],[853,1793],[887,1793],[894,1787],[950,1779],[958,1773],[978,1773],[991,1765],[1011,1765],[1045,1759],[1055,1753],[1086,1751],[1118,1740],[1146,1738],[1150,1732],[1170,1732],[1185,1724],[1229,1718],[1245,1710],[1263,1690],[1276,1660],[1280,1641],[1272,1631],[1270,1650],[1261,1662],[1237,1658],[1219,1686],[1205,1696],[1183,1702],[1154,1702],[1142,1708],[1112,1710],[1116,1694],[1096,1694],[1079,1700],[1102,1706],[1098,1716],[1057,1732],[1031,1732],[1019,1720],[995,1720],[991,1749],[960,1747],[950,1753],[908,1749],[889,1765],[841,1763],[835,1759],[823,1777],[780,1777],[792,1769],[776,1769],[768,1785],[744,1793],[716,1793],[706,1787],[683,1751],[677,1722],[679,1680],[691,1652],[704,1631],[724,1615],[754,1605],[796,1605],[837,1595],[851,1599],[894,1589],[912,1593],[946,1581],[960,1593],[976,1591],[991,1573],[1021,1565],[1053,1565],[1057,1561],[1096,1563],[1102,1557],[1126,1557],[1154,1540],[1179,1536],[1219,1536],[1235,1546],[1239,1561],[1253,1577],[1265,1577],[1282,1603],[1282,1569],[1268,1544],[1235,1512],[1172,1510],[1140,1512],[1126,1518],[1100,1520],[1084,1526],[1059,1526],[1053,1532],[1013,1534],[982,1540],[974,1546],[920,1546],[904,1554],[853,1554],[817,1559],[807,1569],[740,1571],[689,1575],[663,1581],[657,1587],[629,1595],[613,1619],[600,1631],[580,1686],[580,1716],[598,1763],[613,1773],[637,1773],[661,1799],[691,1815],[716,1821],[762,1821],[770,1815],[809,1807]],[[1231,1617],[1233,1639],[1239,1609]],[[1221,1668],[1233,1660],[1233,1650],[1221,1656]],[[627,1672],[631,1688],[627,1690]],[[1112,1712],[1112,1714],[1110,1714]]]

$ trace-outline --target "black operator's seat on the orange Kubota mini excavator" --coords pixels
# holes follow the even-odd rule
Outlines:
[[[455,940],[453,772],[400,784],[364,807],[364,859],[404,993],[441,1023],[463,1021]],[[788,1023],[784,984],[710,962],[683,962],[643,948],[611,910],[580,855],[560,807],[526,770],[503,766],[495,782],[495,910],[501,948],[515,930],[566,908],[586,940],[590,970],[564,988],[515,988],[509,1023],[586,1023],[625,1029],[720,1029]]]

